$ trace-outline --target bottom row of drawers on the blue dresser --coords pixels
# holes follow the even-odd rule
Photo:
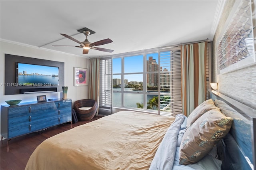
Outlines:
[[[16,126],[16,127],[9,127],[8,138],[13,138],[23,134],[35,132],[35,131],[42,130],[44,128],[52,127],[55,125],[59,125],[61,123],[65,123],[68,121],[72,121],[71,115],[63,115],[60,117],[53,117],[51,119],[46,119],[44,121],[31,122],[31,123]]]

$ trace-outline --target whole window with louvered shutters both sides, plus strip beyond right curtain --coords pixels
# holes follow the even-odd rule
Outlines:
[[[207,89],[210,51],[208,43]],[[101,59],[100,111],[111,113],[112,107],[159,115],[182,113],[180,47]]]

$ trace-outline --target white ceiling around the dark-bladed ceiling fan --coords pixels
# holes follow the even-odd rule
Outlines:
[[[218,0],[0,0],[0,38],[84,57],[212,40],[219,4]],[[88,36],[90,42],[110,38],[112,43],[98,47],[114,52],[90,49],[83,55],[82,48],[52,47],[79,45],[60,33],[82,42],[85,36],[77,30],[84,27],[96,32]]]

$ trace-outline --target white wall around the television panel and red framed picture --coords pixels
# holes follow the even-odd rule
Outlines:
[[[5,83],[5,53],[12,55],[20,55],[24,57],[60,61],[65,63],[64,85],[68,86],[67,98],[72,99],[72,103],[79,99],[88,99],[88,86],[74,86],[74,67],[88,68],[89,71],[90,60],[88,59],[88,57],[70,55],[58,51],[50,51],[44,48],[7,42],[4,40],[1,40],[0,47],[0,85]],[[4,86],[0,86],[1,105],[6,105],[6,100],[14,99],[21,99],[21,103],[28,101],[36,101],[37,95],[46,95],[47,99],[57,99],[62,97],[62,92],[4,95]]]

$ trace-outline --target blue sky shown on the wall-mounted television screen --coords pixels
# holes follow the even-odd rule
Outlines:
[[[33,64],[24,64],[18,63],[19,72],[26,71],[27,74],[39,73],[43,75],[58,75],[58,67],[49,67],[44,65],[33,65]]]

